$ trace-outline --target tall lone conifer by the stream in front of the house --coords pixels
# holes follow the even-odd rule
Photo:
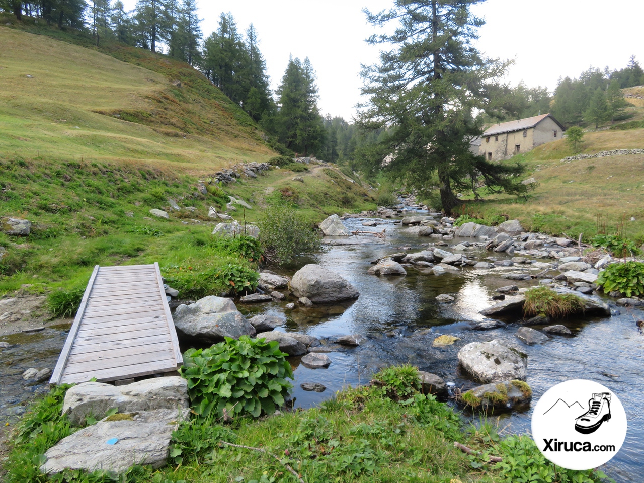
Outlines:
[[[371,169],[384,169],[425,194],[436,183],[442,208],[462,202],[453,185],[482,177],[491,191],[522,193],[519,166],[491,164],[469,151],[482,129],[472,113],[488,109],[489,93],[507,64],[486,59],[473,42],[484,21],[469,12],[477,0],[396,0],[391,10],[366,12],[375,26],[395,29],[368,39],[390,46],[380,63],[363,70],[369,97],[359,116],[364,129],[387,128],[383,139],[361,149]],[[469,183],[471,184],[471,182]]]

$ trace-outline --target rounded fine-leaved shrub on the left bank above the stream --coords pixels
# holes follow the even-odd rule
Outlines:
[[[264,210],[258,226],[264,254],[272,261],[288,261],[303,253],[319,251],[321,240],[310,223],[290,205]]]

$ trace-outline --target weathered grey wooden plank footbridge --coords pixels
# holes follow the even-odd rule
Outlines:
[[[124,381],[182,364],[158,263],[97,265],[50,383]]]

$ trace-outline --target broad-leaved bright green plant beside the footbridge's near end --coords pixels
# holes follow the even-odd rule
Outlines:
[[[188,349],[180,374],[188,381],[194,413],[202,417],[261,412],[272,414],[284,404],[293,372],[277,341],[226,337],[208,349]]]

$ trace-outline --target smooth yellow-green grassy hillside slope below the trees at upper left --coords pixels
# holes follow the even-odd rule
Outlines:
[[[274,155],[254,122],[185,64],[118,44],[106,44],[103,53],[5,26],[0,44],[9,46],[0,57],[3,153],[180,166],[184,173]]]

